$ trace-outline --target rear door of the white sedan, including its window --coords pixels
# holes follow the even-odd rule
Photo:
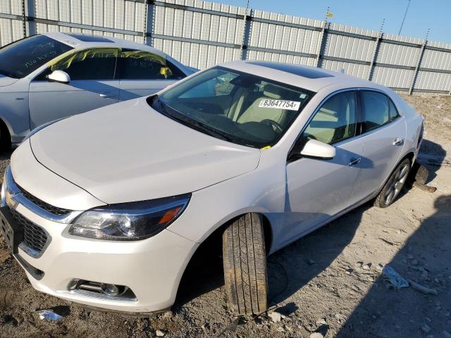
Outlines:
[[[355,202],[376,192],[400,160],[406,124],[388,96],[381,92],[360,90],[362,107],[362,172],[352,193]],[[369,163],[371,158],[371,163]]]

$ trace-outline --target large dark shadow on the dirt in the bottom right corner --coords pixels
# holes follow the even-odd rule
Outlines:
[[[434,207],[435,213],[421,220],[389,265],[438,295],[424,294],[412,286],[395,289],[381,275],[336,337],[447,337],[442,332],[451,328],[451,196],[437,197]]]

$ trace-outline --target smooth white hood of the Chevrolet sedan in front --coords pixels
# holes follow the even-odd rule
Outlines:
[[[61,120],[30,144],[42,165],[107,204],[194,192],[254,170],[260,159],[259,149],[192,130],[144,98]]]

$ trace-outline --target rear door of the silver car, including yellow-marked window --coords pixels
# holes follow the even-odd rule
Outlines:
[[[124,49],[118,58],[121,101],[152,95],[185,76],[166,58],[149,51]]]

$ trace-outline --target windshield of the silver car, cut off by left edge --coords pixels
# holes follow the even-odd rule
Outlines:
[[[20,79],[72,47],[45,35],[34,35],[0,49],[0,74]]]

